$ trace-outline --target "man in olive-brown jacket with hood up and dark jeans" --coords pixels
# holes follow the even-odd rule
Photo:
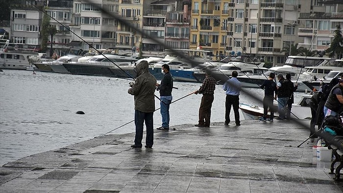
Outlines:
[[[151,148],[153,145],[153,114],[155,111],[155,90],[156,78],[149,73],[147,61],[140,62],[136,67],[137,78],[130,86],[127,93],[135,99],[135,125],[136,135],[133,148],[142,147],[144,121],[147,126],[147,137],[145,147]]]

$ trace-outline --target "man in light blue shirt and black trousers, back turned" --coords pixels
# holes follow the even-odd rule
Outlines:
[[[237,79],[238,72],[233,71],[231,73],[231,78],[228,79],[224,85],[223,90],[225,91],[225,125],[230,122],[230,111],[231,106],[233,107],[233,112],[235,113],[235,122],[237,126],[241,125],[240,114],[239,114],[239,104],[240,104],[240,90],[242,89],[241,82]]]

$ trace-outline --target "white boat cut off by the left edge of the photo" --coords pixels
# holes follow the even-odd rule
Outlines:
[[[0,69],[26,70],[32,62],[38,61],[38,51],[19,48],[0,35]]]

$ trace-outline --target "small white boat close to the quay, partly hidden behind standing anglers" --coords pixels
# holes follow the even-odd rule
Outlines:
[[[292,105],[291,119],[309,119],[311,118],[310,99],[312,94],[302,95],[301,100],[297,104]],[[275,109],[277,109],[277,101],[274,100]],[[263,116],[263,106],[257,106],[253,104],[240,103],[239,108],[243,112],[245,119],[257,119]],[[268,112],[267,118],[269,118],[270,112]],[[274,112],[274,118],[278,117],[279,113]]]

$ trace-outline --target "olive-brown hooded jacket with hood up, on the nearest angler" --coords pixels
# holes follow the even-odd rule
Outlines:
[[[137,78],[127,93],[134,96],[135,110],[145,113],[155,111],[156,78],[150,74],[147,61],[136,66]]]

